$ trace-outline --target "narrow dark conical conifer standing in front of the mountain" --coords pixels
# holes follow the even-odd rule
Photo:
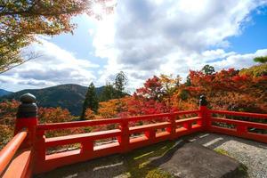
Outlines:
[[[97,113],[97,109],[99,107],[98,103],[98,97],[95,92],[95,87],[93,85],[93,82],[89,85],[88,90],[85,94],[85,102],[81,114],[81,119],[85,118],[85,111],[86,109],[91,109],[93,110],[94,113]]]

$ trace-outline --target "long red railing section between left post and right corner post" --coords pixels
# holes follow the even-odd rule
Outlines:
[[[36,133],[38,136],[36,151],[39,161],[38,165],[41,166],[38,166],[36,173],[42,173],[58,166],[64,166],[79,161],[99,158],[114,153],[127,152],[152,143],[173,140],[178,136],[198,132],[202,129],[202,125],[198,122],[198,120],[201,120],[202,117],[190,117],[177,120],[177,116],[191,114],[199,115],[199,112],[199,110],[188,110],[136,117],[106,118],[89,121],[37,125]],[[144,125],[129,125],[131,122],[150,120],[153,120],[153,123],[144,122]],[[98,131],[86,134],[71,134],[53,138],[45,138],[44,136],[44,131],[46,130],[110,124],[117,124],[118,128],[107,131]],[[178,129],[178,125],[179,128],[183,129]],[[94,144],[94,142],[101,139],[110,138],[116,139],[112,139],[112,142],[106,142],[101,145]],[[45,153],[45,149],[47,148],[74,143],[79,143],[81,145],[80,149],[65,151],[64,153],[53,153],[51,155],[46,155]]]

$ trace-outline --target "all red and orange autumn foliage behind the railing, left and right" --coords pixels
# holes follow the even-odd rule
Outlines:
[[[208,107],[267,113],[266,64],[250,69],[223,69],[218,72],[190,71],[187,82],[181,77],[161,75],[149,78],[133,95],[102,101],[97,112],[85,110],[85,119],[110,117],[129,117],[147,114],[173,112],[177,110],[198,109],[199,95],[206,94]],[[257,72],[260,69],[260,73]],[[255,73],[257,75],[255,75]],[[260,74],[260,75],[259,75]],[[19,106],[18,101],[0,103],[0,142],[4,145],[12,138],[14,119]],[[69,122],[79,120],[68,109],[40,108],[39,123]],[[47,137],[107,130],[117,125],[71,128],[45,133]]]

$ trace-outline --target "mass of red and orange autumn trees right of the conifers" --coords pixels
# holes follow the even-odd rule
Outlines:
[[[267,70],[264,64],[252,67],[259,68]],[[213,109],[267,113],[267,77],[253,74],[236,69],[214,73],[190,70],[190,85],[181,84],[179,76],[154,76],[133,96],[101,102],[99,115],[120,117],[198,109],[201,94],[206,94],[208,107]]]

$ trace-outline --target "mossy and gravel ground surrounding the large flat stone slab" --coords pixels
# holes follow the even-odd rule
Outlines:
[[[223,134],[195,134],[179,140],[195,142],[209,149],[219,150],[228,154],[247,166],[250,178],[267,178],[267,144]],[[36,177],[170,177],[168,174],[158,173],[157,169],[151,170],[147,166],[147,162],[169,150],[172,145],[174,145],[174,142],[163,142],[141,150],[134,150],[129,153],[130,156],[113,155],[106,158],[98,158],[72,166],[61,167]]]

